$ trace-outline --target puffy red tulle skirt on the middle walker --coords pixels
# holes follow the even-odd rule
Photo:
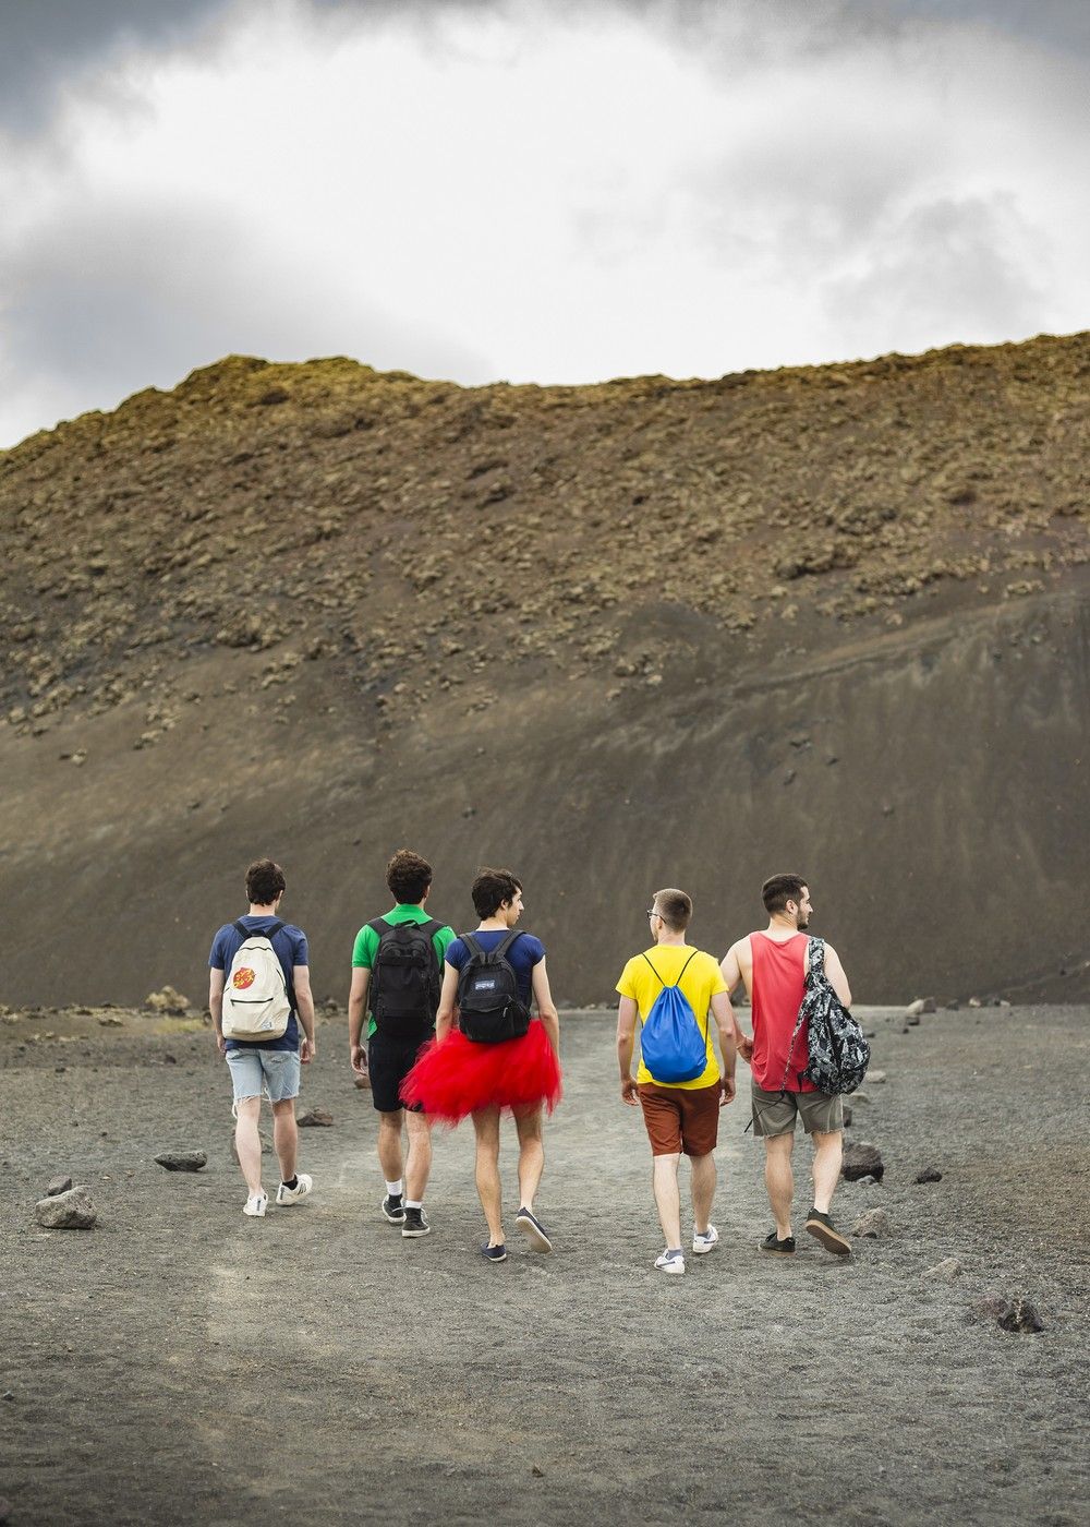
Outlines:
[[[533,1109],[548,1112],[560,1101],[560,1063],[539,1019],[518,1040],[475,1044],[461,1029],[437,1044],[431,1040],[401,1083],[401,1099],[424,1113],[456,1124],[476,1109]]]

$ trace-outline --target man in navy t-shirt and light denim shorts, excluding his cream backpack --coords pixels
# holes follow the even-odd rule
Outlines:
[[[276,916],[287,881],[284,870],[272,860],[256,860],[246,870],[246,895],[250,910],[238,919],[247,935],[266,933],[284,974],[290,1003],[287,1028],[275,1040],[237,1040],[223,1034],[223,993],[227,971],[246,936],[234,922],[224,922],[212,939],[208,957],[208,1006],[215,1028],[215,1043],[227,1057],[235,1092],[235,1150],[246,1177],[249,1197],[243,1214],[263,1219],[269,1194],[261,1186],[261,1136],[258,1118],[261,1098],[269,1098],[273,1110],[273,1144],[279,1157],[281,1183],[276,1203],[298,1203],[313,1182],[307,1173],[296,1173],[295,1157],[299,1136],[295,1124],[295,1099],[299,1095],[299,1066],[314,1058],[314,999],[310,993],[307,935],[292,922]],[[302,1025],[302,1046],[299,1044]]]

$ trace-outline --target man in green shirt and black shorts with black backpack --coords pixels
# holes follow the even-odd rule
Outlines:
[[[401,1226],[401,1235],[418,1237],[431,1231],[424,1214],[432,1167],[431,1121],[426,1113],[405,1107],[400,1089],[421,1046],[435,1037],[443,956],[455,935],[424,912],[432,886],[427,860],[398,849],[386,866],[386,884],[395,901],[392,912],[356,935],[348,1044],[353,1070],[360,1078],[369,1077],[379,1110],[379,1165],[386,1180],[382,1212],[391,1225]],[[409,1136],[405,1156],[403,1124]]]

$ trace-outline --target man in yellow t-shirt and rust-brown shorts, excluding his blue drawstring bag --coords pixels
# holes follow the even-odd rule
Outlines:
[[[681,1196],[678,1165],[682,1151],[692,1164],[693,1252],[699,1257],[719,1240],[710,1223],[716,1191],[713,1151],[719,1135],[719,1109],[734,1098],[734,1054],[739,1038],[734,1012],[719,964],[711,954],[685,944],[693,902],[684,890],[658,890],[647,912],[655,947],[634,956],[617,982],[617,1058],[621,1067],[621,1099],[643,1107],[653,1157],[655,1206],[666,1235],[666,1251],[656,1260],[659,1272],[685,1270],[681,1248]],[[704,1031],[707,1061],[692,1081],[656,1081],[640,1060],[632,1077],[637,1015],[644,1023],[664,986],[678,986],[696,1023]],[[724,1069],[711,1046],[711,1019],[719,1031]]]

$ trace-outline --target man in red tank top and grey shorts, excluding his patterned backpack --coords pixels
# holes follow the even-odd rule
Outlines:
[[[829,1214],[843,1154],[841,1102],[801,1077],[809,1061],[805,1026],[791,1051],[809,964],[809,938],[805,933],[814,912],[809,886],[801,875],[772,875],[760,895],[768,927],[733,944],[721,965],[730,991],[745,982],[753,1011],[753,1038],[742,1035],[739,1054],[753,1070],[753,1133],[765,1141],[765,1186],[776,1215],[776,1229],[765,1237],[760,1249],[779,1257],[789,1257],[795,1249],[791,1234],[795,1191],[791,1151],[795,1119],[801,1116],[803,1128],[814,1141],[814,1208],[806,1217],[806,1229],[826,1251],[846,1257],[852,1246]],[[850,1006],[844,968],[829,944],[824,947],[824,968],[832,989],[846,1008]]]

